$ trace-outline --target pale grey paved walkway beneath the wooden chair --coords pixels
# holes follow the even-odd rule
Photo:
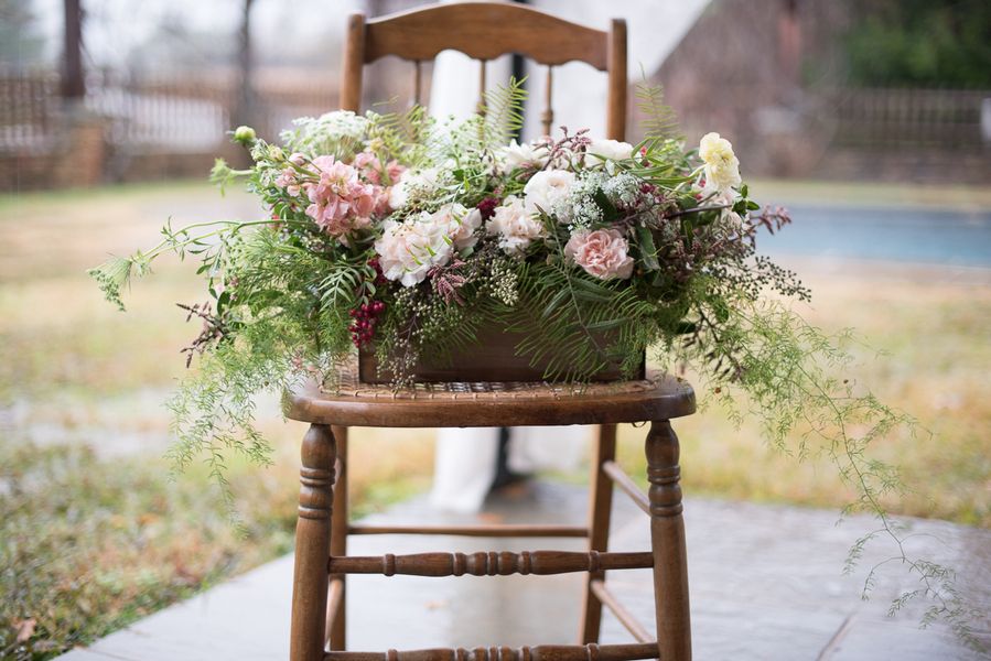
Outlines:
[[[376,522],[581,523],[585,492],[540,484],[492,498],[480,517],[431,511],[413,499]],[[832,511],[689,499],[686,502],[694,657],[700,660],[981,659],[941,625],[919,629],[924,605],[895,618],[888,604],[917,587],[891,564],[871,600],[860,590],[871,564],[890,554],[869,550],[854,575],[842,575],[852,541],[873,528],[868,517],[837,525]],[[913,552],[951,564],[959,587],[982,616],[976,633],[991,648],[991,531],[914,521]],[[648,549],[644,514],[617,492],[612,549]],[[484,540],[443,537],[354,537],[349,553],[581,549],[582,540]],[[348,578],[348,649],[573,643],[582,575],[505,578]],[[287,658],[292,557],[237,577],[97,641],[63,661],[274,660]],[[649,571],[613,572],[610,586],[653,628]],[[603,642],[631,642],[605,616]]]

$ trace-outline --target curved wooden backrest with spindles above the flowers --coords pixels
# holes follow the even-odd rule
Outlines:
[[[445,50],[480,61],[480,98],[485,90],[485,64],[506,53],[519,53],[547,66],[545,133],[553,122],[553,67],[585,62],[608,75],[606,137],[626,137],[626,22],[613,19],[608,31],[593,30],[551,14],[508,2],[431,4],[379,19],[351,15],[344,44],[341,107],[359,111],[364,66],[386,55],[413,62],[413,101],[421,101],[421,63]]]

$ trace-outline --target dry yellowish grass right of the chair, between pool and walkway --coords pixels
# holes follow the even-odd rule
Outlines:
[[[859,365],[847,376],[924,427],[917,440],[894,436],[872,448],[901,466],[911,490],[888,503],[892,510],[991,527],[991,280],[971,272],[973,283],[961,284],[948,271],[911,267],[806,263],[803,271],[815,292],[806,318],[828,330],[857,328],[863,339],[852,347]],[[827,458],[783,456],[754,426],[736,430],[718,409],[677,429],[689,492],[833,508],[852,496]],[[633,470],[643,465],[639,435],[621,433]]]

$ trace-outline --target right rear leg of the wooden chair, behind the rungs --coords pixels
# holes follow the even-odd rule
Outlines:
[[[610,514],[613,507],[613,483],[603,472],[606,462],[616,458],[616,425],[599,426],[595,445],[590,458],[589,483],[589,550],[608,551]],[[582,608],[581,643],[599,642],[602,624],[602,602],[592,592],[593,581],[604,581],[605,572],[590,572],[585,581],[585,600]]]

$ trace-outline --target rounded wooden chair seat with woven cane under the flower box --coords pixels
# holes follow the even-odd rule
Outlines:
[[[362,383],[357,366],[333,386],[310,382],[290,393],[292,420],[342,426],[439,427],[613,424],[670,420],[696,410],[687,381],[648,372],[636,381],[590,383],[449,382],[411,389]]]

